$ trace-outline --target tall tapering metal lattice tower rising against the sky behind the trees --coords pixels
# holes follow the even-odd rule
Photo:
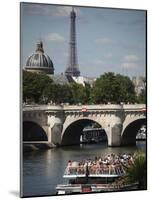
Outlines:
[[[74,8],[70,12],[70,41],[69,41],[69,63],[65,71],[67,76],[80,76],[80,71],[77,62],[77,47],[76,47],[76,13]]]

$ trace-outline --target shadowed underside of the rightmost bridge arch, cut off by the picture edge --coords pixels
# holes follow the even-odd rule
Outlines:
[[[146,118],[131,121],[122,131],[121,145],[136,145],[136,135],[142,125],[146,124]]]

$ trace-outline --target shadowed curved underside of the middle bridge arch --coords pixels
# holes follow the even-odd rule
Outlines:
[[[80,136],[82,135],[83,129],[90,123],[96,123],[97,125],[99,125],[101,128],[104,129],[104,127],[98,121],[93,119],[80,118],[73,120],[62,131],[61,145],[80,144]],[[107,135],[106,131],[105,133]],[[108,140],[108,135],[107,135],[107,140]]]

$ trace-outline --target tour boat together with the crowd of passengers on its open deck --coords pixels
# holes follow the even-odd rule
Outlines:
[[[105,158],[88,159],[81,162],[68,161],[63,178],[67,184],[56,187],[57,194],[89,193],[137,189],[137,183],[117,184],[119,177],[125,175],[125,168],[133,164],[131,155],[114,154]]]

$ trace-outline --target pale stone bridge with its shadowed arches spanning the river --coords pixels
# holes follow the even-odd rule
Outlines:
[[[24,106],[23,141],[79,144],[82,130],[90,122],[105,130],[108,146],[135,145],[136,134],[146,123],[146,105]]]

